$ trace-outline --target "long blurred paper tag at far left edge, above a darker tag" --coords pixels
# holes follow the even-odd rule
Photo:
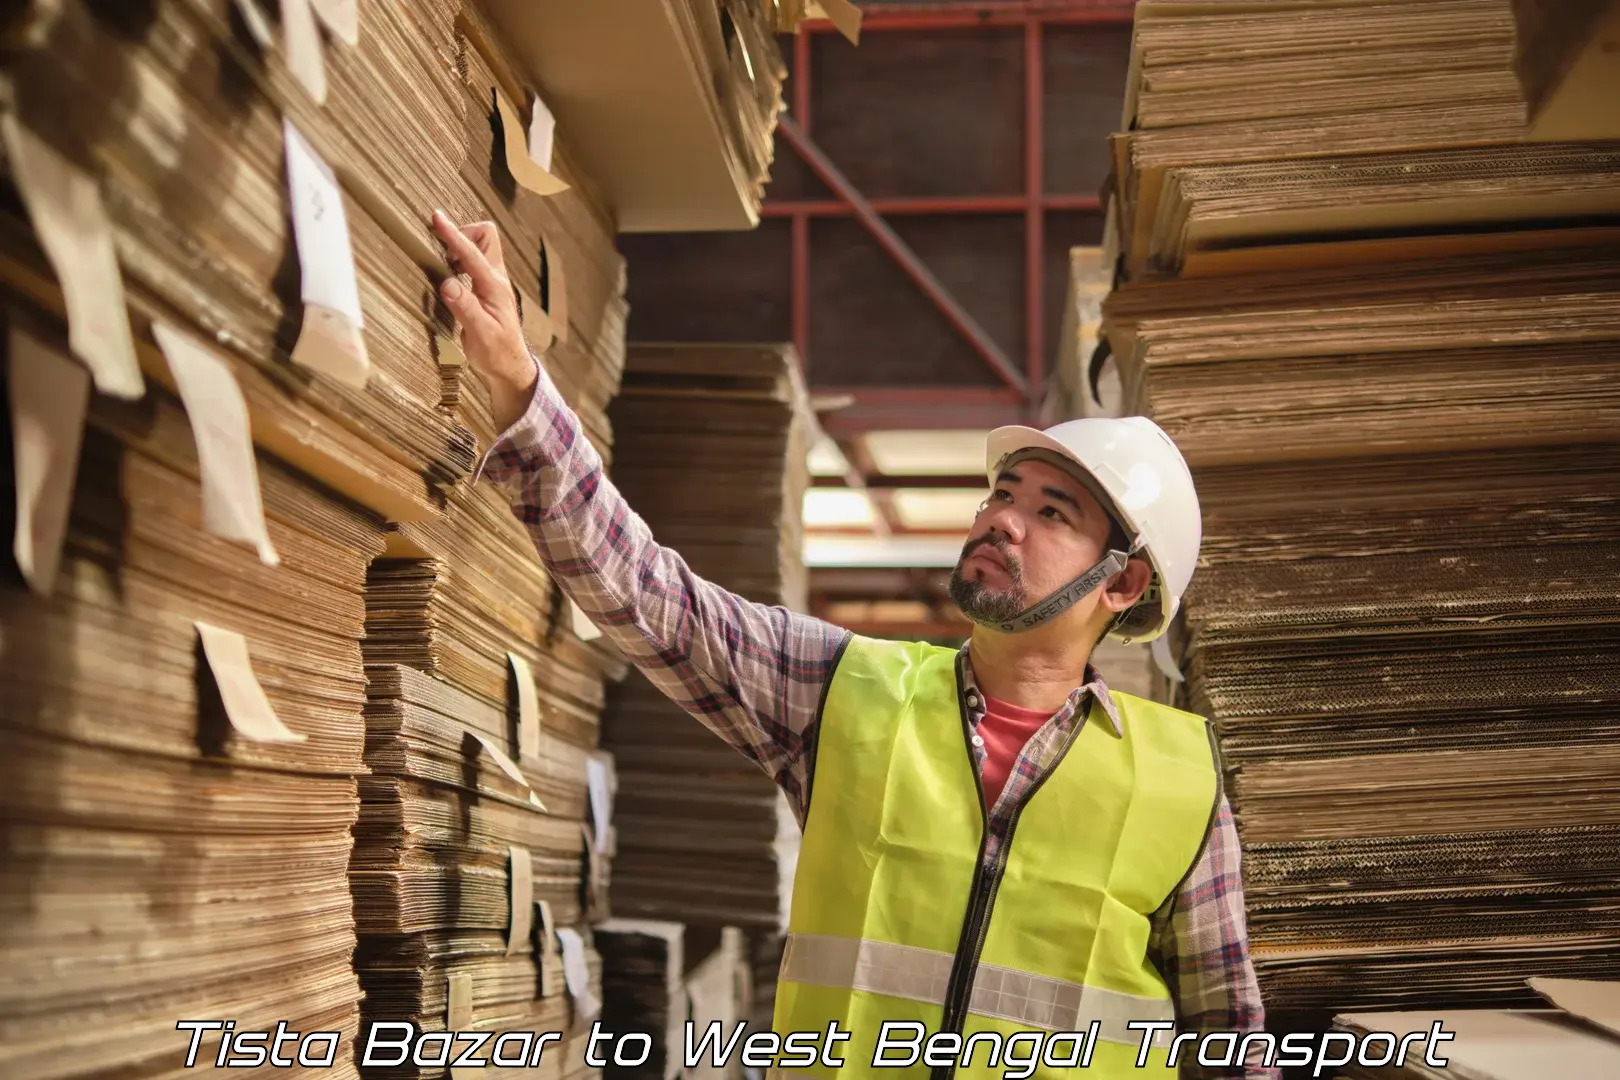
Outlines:
[[[11,112],[0,115],[0,133],[13,183],[62,285],[68,348],[91,369],[97,390],[139,398],[146,393],[146,381],[134,355],[112,220],[96,178],[24,128]]]

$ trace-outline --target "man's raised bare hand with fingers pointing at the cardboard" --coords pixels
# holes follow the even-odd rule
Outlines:
[[[444,210],[434,210],[433,232],[444,241],[457,274],[444,280],[439,295],[462,324],[467,363],[489,389],[496,431],[505,431],[528,408],[538,374],[523,342],[523,322],[501,256],[501,233],[491,222],[457,228]]]

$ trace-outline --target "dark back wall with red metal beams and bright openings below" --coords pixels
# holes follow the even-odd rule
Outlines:
[[[983,434],[1038,423],[1069,251],[1102,235],[1134,0],[860,3],[784,37],[760,227],[629,236],[635,340],[791,340],[823,447],[813,610],[966,633],[946,581]]]

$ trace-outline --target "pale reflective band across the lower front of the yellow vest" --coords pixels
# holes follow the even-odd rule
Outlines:
[[[949,952],[886,941],[789,934],[781,978],[943,1006],[954,960]],[[980,963],[974,973],[969,1010],[1047,1031],[1085,1031],[1097,1020],[1098,1040],[1126,1046],[1142,1044],[1142,1031],[1126,1027],[1132,1020],[1176,1018],[1171,1002],[1160,997],[1119,994],[995,963]],[[1171,1038],[1171,1031],[1153,1031],[1155,1046],[1170,1046]]]

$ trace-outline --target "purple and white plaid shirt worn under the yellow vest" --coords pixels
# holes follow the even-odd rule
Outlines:
[[[525,523],[564,591],[666,696],[771,776],[799,824],[821,687],[847,630],[757,604],[692,573],[659,546],[603,471],[578,418],[539,366],[526,413],[478,466]],[[966,649],[967,646],[964,646]],[[964,693],[977,727],[985,716],[972,662]],[[1087,709],[1095,701],[1100,709]],[[1119,716],[1095,670],[1024,746],[996,805],[991,842],[1004,842],[1011,810],[1048,767],[1074,724]],[[1095,721],[1092,721],[1095,722]],[[983,746],[975,756],[983,766]],[[1238,832],[1221,798],[1197,866],[1153,920],[1150,957],[1168,983],[1181,1031],[1262,1031],[1264,1007],[1249,959]],[[1217,1044],[1217,1049],[1225,1049]],[[1259,1052],[1251,1056],[1257,1061]],[[1187,1078],[1277,1080],[1259,1064],[1202,1067],[1186,1048]]]

